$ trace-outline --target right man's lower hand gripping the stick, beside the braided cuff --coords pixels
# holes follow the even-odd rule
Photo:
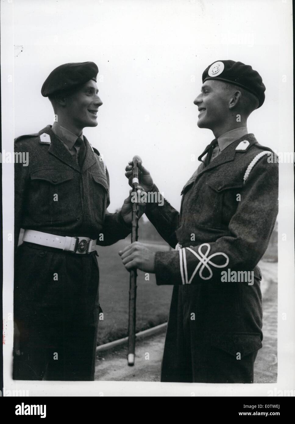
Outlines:
[[[119,255],[127,271],[137,268],[146,272],[155,272],[155,253],[138,241],[120,250]]]

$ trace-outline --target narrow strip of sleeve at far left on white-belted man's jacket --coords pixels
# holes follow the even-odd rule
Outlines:
[[[15,153],[22,154],[22,142],[14,143]],[[30,158],[28,158],[30,160]],[[28,184],[28,166],[22,161],[14,163],[14,253],[17,250],[19,231],[22,227],[22,214],[25,203],[25,192]]]

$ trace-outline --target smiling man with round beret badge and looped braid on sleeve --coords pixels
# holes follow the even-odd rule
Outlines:
[[[214,140],[184,185],[180,213],[166,200],[145,209],[175,251],[153,253],[136,242],[119,254],[128,270],[174,285],[161,381],[251,383],[262,347],[257,264],[278,213],[278,166],[247,129],[248,116],[264,102],[260,75],[241,62],[219,60],[202,80],[194,101],[198,126],[211,129]],[[159,192],[139,167],[144,189]]]

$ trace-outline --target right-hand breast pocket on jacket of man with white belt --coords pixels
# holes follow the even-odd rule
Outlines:
[[[109,198],[109,186],[106,178],[101,174],[90,174],[93,212],[98,223],[103,224],[106,216],[107,201]]]

